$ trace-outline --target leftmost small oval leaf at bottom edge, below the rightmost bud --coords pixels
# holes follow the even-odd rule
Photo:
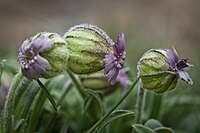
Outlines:
[[[135,125],[132,125],[132,126],[135,129],[136,133],[156,133],[151,128],[146,127],[146,126],[141,125],[141,124],[135,124]]]

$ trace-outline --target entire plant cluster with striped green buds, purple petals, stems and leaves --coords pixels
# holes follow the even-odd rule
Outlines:
[[[143,125],[145,93],[146,90],[165,93],[174,89],[179,79],[192,84],[187,73],[191,67],[188,59],[180,60],[174,48],[149,50],[139,60],[138,76],[131,83],[124,69],[124,38],[124,33],[119,34],[116,42],[113,42],[97,26],[80,24],[71,27],[64,36],[41,32],[26,39],[18,53],[21,70],[12,82],[1,113],[0,132],[109,132],[107,125],[126,116],[135,117],[131,117],[133,132],[173,132],[156,120],[149,120]],[[131,110],[117,110],[138,81],[138,96],[132,98],[137,101],[135,114]],[[69,89],[71,83],[77,89],[75,92],[79,93],[71,93],[72,97],[67,95],[68,91],[73,90]],[[67,89],[61,92],[62,89],[57,87],[63,86],[67,86]],[[120,86],[123,88],[122,97],[108,111],[103,110],[105,94],[112,96],[111,93]],[[44,102],[43,93],[52,104],[53,113]],[[63,104],[65,100],[70,101],[77,96],[82,101],[82,110],[76,112],[77,107]],[[96,113],[96,117],[91,117],[95,113],[91,114],[90,109],[94,110],[96,104],[103,111],[101,115]],[[73,116],[67,115],[70,111]],[[47,122],[44,124],[40,120]],[[59,125],[53,126],[55,123]],[[158,128],[148,126],[152,123],[157,123]]]

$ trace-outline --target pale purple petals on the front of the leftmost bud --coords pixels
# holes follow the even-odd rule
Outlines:
[[[49,62],[40,53],[49,50],[54,42],[47,36],[40,35],[36,39],[25,40],[19,49],[18,61],[22,73],[28,79],[38,79],[45,71],[50,70]]]

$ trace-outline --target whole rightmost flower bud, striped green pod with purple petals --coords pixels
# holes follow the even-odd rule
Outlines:
[[[186,72],[191,65],[185,59],[179,60],[176,50],[152,49],[147,51],[138,62],[138,75],[142,87],[163,93],[176,87],[178,79],[192,84]]]

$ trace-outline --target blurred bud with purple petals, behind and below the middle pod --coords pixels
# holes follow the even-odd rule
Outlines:
[[[128,80],[124,69],[120,70],[114,84],[108,82],[108,77],[104,76],[103,71],[91,75],[80,76],[80,79],[84,88],[92,89],[102,94],[110,94],[119,86],[123,88],[123,91],[128,89]]]

